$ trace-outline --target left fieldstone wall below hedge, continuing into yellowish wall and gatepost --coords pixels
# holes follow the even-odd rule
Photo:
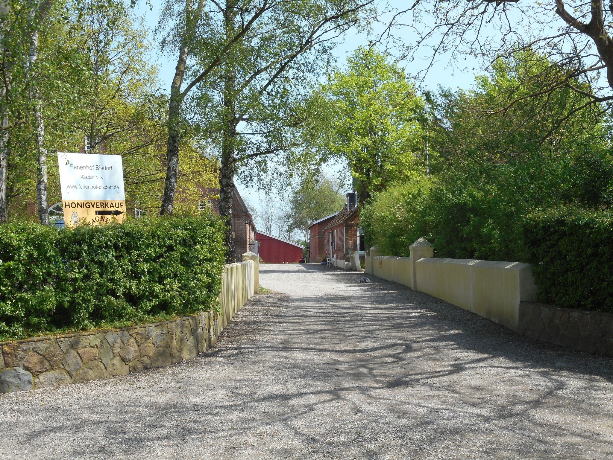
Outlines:
[[[259,261],[253,256],[224,268],[219,313],[0,342],[0,393],[107,379],[194,358],[215,344],[238,308],[259,292]]]

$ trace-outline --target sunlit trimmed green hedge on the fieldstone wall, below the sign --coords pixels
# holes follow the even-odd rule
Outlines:
[[[0,340],[214,309],[224,252],[206,215],[1,225]]]

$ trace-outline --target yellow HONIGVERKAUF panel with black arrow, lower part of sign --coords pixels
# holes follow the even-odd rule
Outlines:
[[[123,222],[126,217],[126,200],[63,200],[62,205],[64,225],[69,228]]]

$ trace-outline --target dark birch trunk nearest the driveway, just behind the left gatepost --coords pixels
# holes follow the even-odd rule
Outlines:
[[[237,0],[226,0],[224,23],[226,39],[235,36],[234,19],[236,17]],[[236,160],[236,63],[232,53],[226,56],[223,65],[224,72],[224,118],[223,136],[221,140],[221,169],[219,170],[219,216],[226,217],[226,260],[234,262],[234,235],[232,234],[232,202],[234,198],[234,168]]]

